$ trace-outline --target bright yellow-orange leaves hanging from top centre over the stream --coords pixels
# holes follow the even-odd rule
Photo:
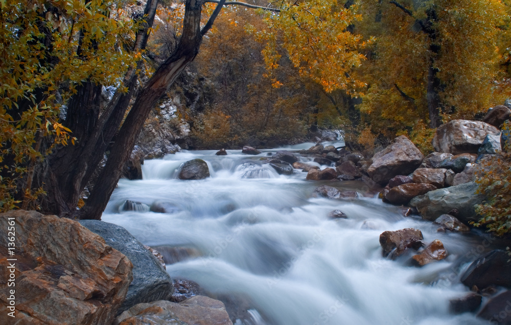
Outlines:
[[[267,42],[263,54],[268,69],[275,69],[281,56],[288,56],[301,76],[327,92],[357,93],[363,84],[351,73],[364,60],[360,50],[365,43],[349,31],[361,19],[356,10],[356,6],[339,6],[336,0],[312,0],[285,2],[280,13],[268,13],[267,28],[257,32]]]

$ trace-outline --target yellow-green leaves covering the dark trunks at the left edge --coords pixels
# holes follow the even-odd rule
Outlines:
[[[82,82],[114,85],[133,62],[123,48],[134,36],[123,5],[100,0],[0,3],[0,210],[27,203],[41,141],[67,144],[72,130],[58,122],[62,103]],[[25,179],[25,180],[22,180]],[[18,182],[28,182],[17,193]],[[16,197],[15,197],[16,196]]]

